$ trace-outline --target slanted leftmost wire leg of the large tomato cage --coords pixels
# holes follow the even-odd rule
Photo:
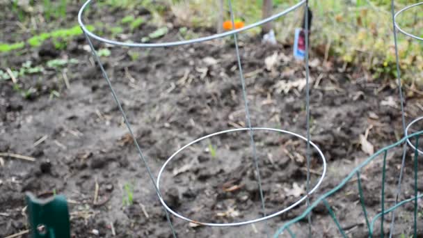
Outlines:
[[[83,29],[82,29],[82,31],[83,31]],[[141,158],[141,160],[143,161],[145,168],[147,168],[148,176],[150,177],[150,180],[153,183],[153,186],[154,186],[154,189],[156,190],[157,196],[159,196],[159,198],[161,198],[159,188],[157,188],[157,186],[156,186],[156,180],[154,179],[154,176],[153,176],[153,174],[150,170],[150,166],[148,166],[147,159],[145,159],[143,151],[141,150],[140,145],[138,145],[138,141],[136,141],[136,137],[134,136],[134,132],[132,132],[131,125],[129,124],[129,121],[127,120],[126,113],[122,109],[122,104],[120,104],[120,100],[118,98],[118,95],[116,95],[115,90],[113,89],[113,86],[111,85],[111,81],[109,79],[109,76],[107,75],[106,70],[104,70],[102,61],[100,61],[100,58],[97,54],[97,51],[95,51],[95,48],[93,46],[93,42],[91,42],[91,40],[90,40],[90,37],[87,35],[87,33],[85,31],[83,31],[83,33],[84,33],[84,35],[85,35],[85,37],[88,41],[88,44],[90,45],[91,52],[93,53],[95,61],[97,61],[100,70],[102,70],[102,74],[103,74],[104,79],[106,79],[107,84],[109,84],[109,88],[111,90],[111,94],[113,95],[113,99],[115,100],[116,104],[118,104],[119,111],[120,111],[120,113],[122,113],[122,117],[125,120],[125,124],[127,125],[129,134],[131,134],[131,138],[134,141],[134,144],[136,146],[136,150],[138,150],[138,155]],[[162,206],[162,207],[163,207],[164,212],[166,213],[166,219],[168,220],[170,230],[172,230],[173,237],[176,238],[176,232],[175,232],[175,229],[173,228],[172,221],[170,221],[170,216],[169,216],[168,210],[166,209],[166,207],[164,207],[164,206]]]

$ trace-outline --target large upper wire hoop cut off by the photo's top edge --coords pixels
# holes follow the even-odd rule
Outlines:
[[[120,42],[120,41],[116,41],[116,40],[109,40],[106,38],[102,38],[99,35],[95,35],[95,33],[92,33],[91,31],[89,31],[88,29],[86,29],[85,24],[83,24],[82,21],[82,14],[83,11],[90,5],[90,3],[93,2],[93,0],[88,0],[86,1],[86,3],[83,4],[83,6],[81,7],[81,9],[79,9],[79,13],[78,13],[78,22],[79,22],[79,26],[81,26],[81,29],[90,37],[93,38],[95,40],[99,40],[100,42],[104,42],[107,44],[111,44],[111,45],[120,45],[123,47],[173,47],[173,46],[178,46],[178,45],[188,45],[188,44],[193,44],[193,43],[198,43],[198,42],[204,42],[207,40],[214,40],[217,38],[223,38],[225,36],[228,35],[234,35],[235,33],[239,33],[242,31],[246,31],[248,29],[252,29],[254,27],[260,26],[262,24],[265,24],[267,22],[271,22],[274,19],[278,19],[279,17],[282,17],[283,15],[287,15],[288,13],[292,12],[293,10],[296,10],[297,8],[303,6],[303,4],[305,3],[306,0],[301,0],[298,1],[298,3],[296,3],[294,6],[291,6],[289,8],[287,8],[286,10],[283,10],[282,12],[276,14],[276,15],[272,15],[271,17],[267,17],[266,19],[262,19],[259,22],[255,22],[254,24],[250,24],[248,26],[244,26],[241,29],[235,29],[232,31],[227,31],[224,33],[218,33],[218,34],[214,34],[214,35],[209,35],[209,36],[205,36],[202,38],[195,38],[195,39],[191,39],[191,40],[182,40],[182,41],[174,41],[174,42],[162,42],[162,43],[136,43],[136,42]]]

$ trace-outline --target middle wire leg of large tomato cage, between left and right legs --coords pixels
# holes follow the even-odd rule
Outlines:
[[[234,27],[235,21],[234,21],[234,12],[232,10],[231,0],[228,0],[228,5],[229,5],[229,10],[230,10],[230,19],[231,19],[231,22],[232,22],[232,27]],[[256,173],[257,173],[257,183],[258,183],[258,187],[259,187],[259,191],[260,191],[260,200],[262,200],[262,212],[263,212],[263,216],[266,216],[266,207],[264,205],[264,195],[263,195],[263,189],[262,189],[262,179],[260,177],[260,169],[259,169],[259,164],[258,164],[258,160],[257,160],[257,149],[255,148],[254,132],[253,132],[253,128],[251,127],[250,110],[248,109],[248,98],[247,98],[247,93],[246,93],[246,82],[245,82],[245,79],[244,79],[244,73],[242,72],[241,56],[239,56],[237,33],[234,33],[234,43],[235,43],[235,51],[237,52],[239,77],[241,79],[242,96],[244,97],[244,106],[245,106],[245,109],[246,109],[246,119],[247,119],[248,128],[250,129],[250,144],[251,144],[251,148],[253,150],[253,159],[254,159],[255,170],[256,170]],[[264,221],[264,230],[266,231],[266,236],[269,238],[267,221]]]

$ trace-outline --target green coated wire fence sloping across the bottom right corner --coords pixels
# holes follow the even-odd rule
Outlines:
[[[305,211],[300,216],[297,216],[295,219],[292,219],[291,221],[288,221],[287,223],[282,225],[282,227],[279,228],[278,231],[275,233],[274,237],[279,237],[279,235],[284,234],[285,232],[287,234],[289,234],[290,237],[296,237],[297,234],[295,232],[293,232],[293,230],[291,228],[295,225],[301,225],[301,222],[305,221],[305,218],[308,216],[308,214],[311,214],[313,212],[313,209],[315,209],[320,203],[324,204],[324,207],[326,207],[328,214],[330,215],[333,222],[335,223],[337,230],[339,231],[339,237],[347,237],[345,229],[342,228],[342,225],[340,224],[340,220],[337,219],[335,212],[333,212],[333,208],[328,203],[328,198],[330,198],[331,196],[334,196],[336,193],[339,193],[340,191],[342,191],[342,189],[344,189],[347,184],[351,184],[351,182],[353,182],[354,177],[356,177],[356,182],[357,182],[357,187],[358,187],[358,196],[359,196],[359,200],[360,200],[360,207],[362,209],[362,215],[365,218],[365,226],[367,227],[368,237],[375,237],[376,236],[375,226],[376,226],[376,221],[378,221],[378,219],[381,220],[380,221],[380,235],[381,235],[381,237],[385,237],[385,235],[388,235],[388,234],[384,234],[384,232],[383,232],[385,215],[394,211],[394,210],[396,210],[396,209],[398,209],[402,205],[404,205],[406,203],[410,203],[410,202],[414,202],[414,207],[413,207],[413,221],[414,221],[414,223],[413,223],[413,225],[410,225],[410,227],[413,228],[413,237],[422,237],[421,233],[417,233],[417,219],[418,219],[418,215],[417,215],[418,203],[417,202],[420,198],[423,197],[423,194],[419,194],[418,191],[417,191],[417,180],[418,180],[418,176],[417,176],[418,169],[417,168],[418,168],[418,155],[419,155],[419,152],[418,152],[419,146],[418,145],[419,145],[419,138],[422,134],[423,134],[423,131],[422,132],[416,132],[414,134],[410,134],[409,136],[402,138],[400,141],[397,141],[397,143],[394,143],[394,144],[389,145],[389,146],[387,146],[387,147],[385,147],[381,150],[378,150],[378,152],[373,154],[371,157],[367,158],[360,165],[356,166],[356,168],[354,168],[351,171],[351,173],[349,173],[349,175],[346,176],[344,178],[344,180],[342,180],[342,182],[340,182],[340,184],[338,184],[335,188],[331,189],[327,193],[324,193],[324,195],[317,198],[314,201],[314,203],[312,203],[310,205],[310,207],[305,209]],[[397,147],[399,147],[399,145],[404,145],[404,143],[407,143],[407,140],[410,140],[410,139],[412,139],[412,141],[415,141],[415,143],[414,143],[415,148],[410,150],[410,151],[413,152],[413,156],[410,159],[413,159],[414,196],[412,196],[411,198],[408,198],[406,200],[402,200],[392,207],[385,207],[385,183],[386,183],[385,182],[385,180],[386,180],[386,176],[385,176],[386,173],[385,172],[387,170],[387,168],[386,168],[387,154],[388,154],[388,152],[390,152],[390,150],[397,149]],[[365,206],[366,198],[363,195],[362,177],[360,177],[360,171],[365,169],[365,167],[368,166],[369,164],[371,164],[372,162],[378,161],[378,159],[383,159],[382,168],[381,168],[381,177],[382,177],[382,181],[381,181],[381,183],[382,183],[381,184],[381,212],[374,215],[373,218],[370,219],[369,214],[368,214],[367,209],[366,209],[366,206]],[[357,219],[357,218],[354,218],[354,219]],[[304,225],[305,225],[305,223],[304,223]],[[408,236],[406,236],[406,237],[408,238]]]

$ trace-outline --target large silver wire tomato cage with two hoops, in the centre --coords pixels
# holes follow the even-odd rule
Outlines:
[[[254,24],[250,24],[248,26],[243,26],[240,29],[233,29],[230,31],[226,31],[223,33],[217,33],[215,35],[209,35],[202,38],[194,38],[190,40],[179,40],[174,42],[152,42],[152,43],[146,43],[146,42],[124,42],[124,41],[117,41],[117,40],[110,40],[107,38],[102,38],[99,35],[96,35],[92,31],[86,27],[86,24],[84,24],[84,13],[87,12],[87,9],[90,7],[90,5],[95,2],[94,0],[88,0],[86,3],[83,4],[79,11],[78,20],[79,24],[81,26],[81,29],[83,30],[83,33],[86,36],[86,40],[88,42],[88,45],[90,46],[90,50],[93,53],[94,61],[97,63],[97,66],[102,72],[102,75],[104,79],[107,82],[107,85],[109,86],[111,90],[111,94],[113,96],[113,100],[118,106],[118,109],[122,115],[123,121],[125,122],[125,125],[127,127],[127,130],[129,131],[129,134],[131,138],[134,141],[134,144],[136,146],[136,150],[138,152],[138,155],[147,169],[147,176],[150,178],[152,185],[154,187],[155,193],[157,193],[157,198],[159,199],[162,207],[163,207],[163,213],[166,214],[166,219],[168,221],[168,227],[170,228],[170,234],[173,235],[173,237],[177,237],[177,231],[175,230],[175,226],[173,221],[171,219],[171,216],[174,216],[178,219],[182,219],[186,222],[189,222],[193,225],[204,225],[204,226],[211,226],[211,227],[233,227],[233,226],[240,226],[240,225],[247,225],[247,224],[253,224],[253,223],[264,223],[264,232],[262,234],[266,234],[268,237],[272,233],[269,231],[269,228],[266,227],[266,221],[279,216],[281,214],[285,214],[286,212],[290,211],[292,208],[297,207],[300,204],[303,203],[309,203],[309,197],[312,193],[317,191],[319,188],[319,185],[324,180],[325,174],[326,174],[326,160],[324,157],[324,153],[321,152],[319,147],[314,144],[312,141],[310,141],[310,84],[309,84],[309,60],[308,60],[308,33],[305,33],[305,79],[306,79],[306,85],[305,85],[305,111],[306,111],[306,135],[300,135],[295,132],[290,132],[285,129],[278,129],[278,128],[270,128],[270,127],[257,127],[256,125],[253,125],[251,122],[251,113],[250,113],[250,107],[248,103],[248,92],[246,90],[246,80],[245,80],[245,74],[243,72],[242,63],[241,63],[241,56],[239,53],[239,34],[243,33],[244,31],[247,31],[249,29],[253,29],[257,26],[261,26],[263,24],[266,24],[268,22],[273,21],[274,19],[278,19],[280,17],[285,17],[288,13],[293,12],[294,10],[298,10],[300,8],[308,9],[308,0],[301,0],[298,1],[294,6],[291,6],[285,10],[283,10],[280,13],[277,13],[275,15],[272,15],[271,17],[267,17],[266,19],[262,19],[260,22],[255,22]],[[232,22],[232,26],[235,26],[234,19],[236,16],[234,15],[234,11],[232,9],[232,3],[229,0],[228,1],[228,9],[230,12],[230,19]],[[91,10],[91,9],[90,9]],[[308,17],[309,13],[308,10],[304,10],[305,14],[305,29],[308,29]],[[127,113],[124,109],[124,106],[122,106],[120,97],[118,93],[115,92],[115,88],[113,87],[113,81],[111,80],[111,77],[109,77],[109,74],[106,72],[104,68],[104,63],[102,63],[102,59],[99,56],[99,52],[95,49],[94,41],[97,41],[99,43],[109,44],[113,45],[114,47],[127,47],[129,49],[151,49],[151,48],[163,48],[163,47],[178,47],[182,45],[191,45],[191,44],[199,44],[199,43],[205,43],[211,40],[216,40],[218,38],[233,38],[233,45],[234,45],[234,52],[236,54],[236,60],[237,60],[237,72],[239,72],[239,88],[242,90],[242,100],[244,101],[244,113],[246,116],[246,127],[241,128],[235,128],[235,129],[223,129],[220,132],[215,132],[212,134],[207,134],[205,136],[202,136],[198,139],[195,139],[194,141],[191,141],[190,143],[187,143],[186,145],[182,146],[182,148],[179,148],[179,150],[175,150],[176,152],[170,155],[168,159],[166,159],[166,162],[161,166],[159,173],[156,176],[154,176],[154,173],[152,172],[152,169],[150,168],[150,164],[147,160],[147,157],[145,156],[143,145],[142,143],[139,143],[136,136],[134,135],[134,129],[131,125],[131,122],[129,122],[127,118]],[[169,66],[171,67],[171,66]],[[248,156],[253,159],[253,164],[255,167],[255,180],[257,182],[258,191],[260,194],[260,206],[261,206],[261,214],[260,217],[255,217],[251,219],[245,219],[244,221],[234,221],[234,222],[211,222],[211,221],[198,221],[196,219],[192,219],[189,216],[180,214],[179,212],[175,211],[171,205],[168,204],[168,200],[163,196],[163,192],[166,191],[166,187],[163,187],[163,180],[166,175],[166,167],[169,166],[170,163],[172,163],[175,159],[177,159],[179,154],[183,154],[187,150],[193,150],[193,146],[197,143],[201,143],[201,141],[205,141],[208,139],[211,139],[216,136],[228,136],[229,134],[239,134],[239,133],[246,133],[248,134],[248,141],[249,141],[249,154]],[[268,209],[266,209],[266,202],[264,198],[263,193],[263,185],[261,180],[261,170],[260,170],[260,155],[257,151],[257,141],[255,138],[255,135],[260,132],[272,132],[276,133],[278,135],[284,135],[284,136],[291,136],[295,138],[298,141],[301,141],[305,144],[305,157],[307,159],[307,184],[306,184],[306,194],[299,198],[298,200],[294,201],[294,203],[288,205],[287,207],[278,207],[278,209],[274,209],[272,212],[269,212]],[[317,164],[321,165],[321,174],[319,175],[319,178],[314,181],[314,185],[312,185],[312,182],[310,181],[310,162],[311,161],[316,162]]]

